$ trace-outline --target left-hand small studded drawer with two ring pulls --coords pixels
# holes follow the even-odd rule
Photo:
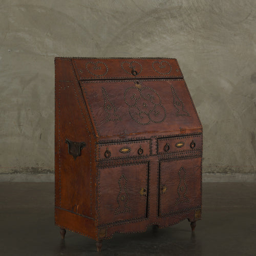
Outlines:
[[[150,140],[104,143],[98,145],[98,160],[150,156]]]

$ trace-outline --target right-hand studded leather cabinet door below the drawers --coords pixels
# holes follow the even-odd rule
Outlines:
[[[160,161],[159,216],[201,208],[201,157]]]

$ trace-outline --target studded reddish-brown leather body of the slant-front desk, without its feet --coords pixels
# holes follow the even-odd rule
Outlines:
[[[99,241],[201,219],[202,147],[176,59],[55,58],[56,225]]]

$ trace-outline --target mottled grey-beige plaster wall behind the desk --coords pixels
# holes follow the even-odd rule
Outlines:
[[[53,180],[55,56],[177,58],[204,180],[256,180],[255,0],[0,4],[0,180]]]

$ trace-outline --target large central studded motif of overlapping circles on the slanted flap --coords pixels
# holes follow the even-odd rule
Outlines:
[[[130,116],[139,124],[161,123],[166,118],[160,96],[152,88],[130,87],[124,92],[124,101]]]

